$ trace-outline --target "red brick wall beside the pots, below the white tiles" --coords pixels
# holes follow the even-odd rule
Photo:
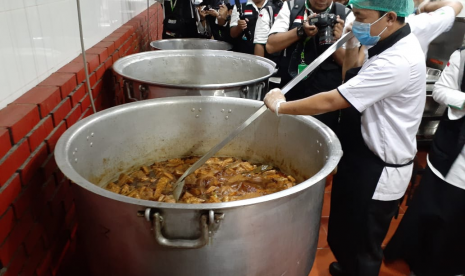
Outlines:
[[[161,12],[158,4],[150,8],[152,40],[161,38]],[[112,64],[148,50],[148,43],[144,11],[87,50],[98,111],[125,102]],[[79,229],[73,184],[58,170],[53,150],[66,129],[91,114],[81,56],[0,110],[1,276],[56,275],[72,255]]]

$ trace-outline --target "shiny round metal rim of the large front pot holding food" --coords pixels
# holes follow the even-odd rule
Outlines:
[[[280,199],[283,197],[291,196],[293,194],[297,194],[314,184],[318,183],[322,179],[326,178],[328,175],[333,172],[336,168],[339,160],[342,157],[342,148],[339,142],[339,139],[336,137],[334,132],[318,121],[317,119],[311,116],[295,116],[297,120],[307,122],[315,126],[315,129],[320,132],[324,137],[325,140],[331,143],[329,146],[329,153],[328,159],[323,168],[310,177],[309,179],[305,180],[302,183],[295,185],[294,187],[283,190],[277,193],[245,199],[245,200],[238,200],[232,202],[222,202],[222,203],[202,203],[202,204],[189,204],[189,203],[165,203],[165,202],[157,202],[157,201],[149,201],[149,200],[141,200],[132,197],[123,196],[120,194],[116,194],[101,188],[88,180],[82,177],[79,173],[74,170],[73,166],[70,163],[70,159],[67,158],[67,152],[70,151],[71,141],[77,136],[77,134],[85,129],[88,125],[91,125],[94,121],[102,120],[105,117],[110,117],[114,113],[118,113],[121,111],[127,111],[130,109],[138,109],[142,106],[151,106],[156,107],[158,105],[166,105],[166,104],[176,104],[176,103],[191,103],[195,102],[217,102],[221,100],[222,102],[230,102],[230,103],[237,103],[241,102],[242,104],[256,107],[259,109],[263,102],[255,101],[255,100],[248,100],[248,99],[241,99],[241,98],[230,98],[230,97],[214,97],[214,96],[188,96],[188,97],[171,97],[171,98],[159,98],[159,99],[152,99],[152,100],[144,100],[135,103],[128,103],[124,105],[120,105],[117,107],[109,108],[104,111],[100,111],[97,114],[92,114],[89,117],[77,122],[71,128],[69,128],[58,140],[57,145],[55,147],[55,160],[58,164],[60,170],[64,173],[64,175],[69,178],[71,181],[76,183],[77,185],[81,186],[82,188],[95,193],[97,195],[117,200],[124,203],[144,206],[147,208],[161,208],[161,209],[190,209],[190,210],[215,210],[215,209],[230,209],[235,207],[241,206],[249,206],[254,204],[259,204],[263,202],[268,202],[276,199]],[[291,115],[284,115],[284,116],[291,116]],[[232,132],[233,130],[231,130]]]

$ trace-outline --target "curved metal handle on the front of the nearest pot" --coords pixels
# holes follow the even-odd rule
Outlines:
[[[150,213],[147,209],[146,215]],[[196,249],[204,247],[208,244],[209,238],[213,235],[213,232],[216,231],[219,227],[219,222],[224,218],[224,214],[215,214],[213,210],[210,210],[208,215],[200,216],[200,237],[194,240],[185,240],[185,239],[168,239],[163,236],[163,217],[159,212],[155,212],[152,217],[153,223],[153,232],[155,235],[155,240],[158,244],[178,249]]]

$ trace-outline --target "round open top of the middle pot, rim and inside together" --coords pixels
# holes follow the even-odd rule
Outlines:
[[[114,72],[125,79],[192,90],[255,84],[270,78],[275,68],[266,58],[219,50],[150,51],[113,64]]]

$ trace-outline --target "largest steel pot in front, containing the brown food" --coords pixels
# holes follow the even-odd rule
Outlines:
[[[202,155],[260,107],[227,97],[177,97],[92,115],[58,141],[73,182],[78,234],[93,275],[307,276],[315,258],[325,178],[342,151],[312,117],[266,112],[219,152],[272,162],[303,183],[217,204],[169,204],[101,188],[134,167]]]

